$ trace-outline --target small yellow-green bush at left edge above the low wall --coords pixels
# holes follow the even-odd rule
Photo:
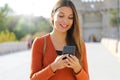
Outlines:
[[[1,31],[0,32],[0,43],[1,42],[8,42],[8,41],[16,41],[16,36],[13,32],[9,30]]]

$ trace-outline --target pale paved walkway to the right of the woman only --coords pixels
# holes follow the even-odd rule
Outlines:
[[[120,80],[120,62],[103,45],[87,43],[91,80]]]

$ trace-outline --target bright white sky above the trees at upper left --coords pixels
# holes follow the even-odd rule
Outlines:
[[[15,14],[50,17],[56,0],[0,0],[0,7],[8,4]]]

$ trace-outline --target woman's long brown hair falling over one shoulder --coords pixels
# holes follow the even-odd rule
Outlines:
[[[53,7],[52,14],[56,12],[56,10],[60,7],[70,7],[73,11],[73,24],[72,27],[67,31],[67,37],[66,37],[66,43],[67,45],[76,45],[76,57],[80,59],[82,58],[82,37],[81,37],[81,29],[80,29],[80,24],[79,24],[79,17],[77,10],[71,0],[58,0],[55,6]],[[53,24],[52,20],[52,24]],[[53,24],[54,25],[54,24]]]

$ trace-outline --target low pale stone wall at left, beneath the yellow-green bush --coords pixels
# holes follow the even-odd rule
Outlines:
[[[0,54],[27,50],[27,42],[5,42],[0,43]]]

